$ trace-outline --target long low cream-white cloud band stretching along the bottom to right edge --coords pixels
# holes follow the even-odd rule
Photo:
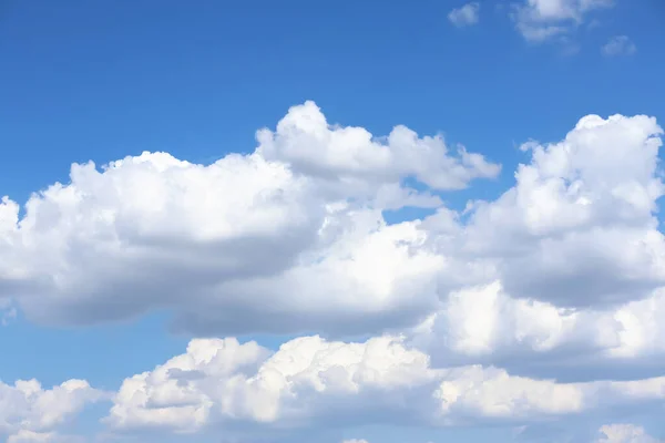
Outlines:
[[[126,379],[106,422],[116,429],[178,432],[231,421],[301,427],[334,418],[348,424],[361,415],[452,425],[470,419],[539,420],[663,399],[665,378],[557,383],[492,367],[437,369],[427,354],[393,337],[361,343],[303,337],[272,356],[254,342],[195,340],[185,354]]]

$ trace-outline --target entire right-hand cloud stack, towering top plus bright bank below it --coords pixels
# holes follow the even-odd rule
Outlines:
[[[608,361],[663,371],[661,135],[644,116],[584,117],[562,142],[525,144],[531,162],[497,200],[426,218],[419,227],[457,271],[441,275],[448,296],[413,341],[436,359],[534,363],[540,374],[605,373]]]

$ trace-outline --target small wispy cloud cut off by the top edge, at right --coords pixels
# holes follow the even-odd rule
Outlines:
[[[512,19],[525,40],[543,42],[570,33],[589,13],[613,4],[613,0],[523,0],[513,4]]]

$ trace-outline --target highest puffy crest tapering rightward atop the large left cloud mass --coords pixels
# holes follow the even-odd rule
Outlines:
[[[442,136],[418,137],[398,125],[387,137],[362,127],[330,125],[314,102],[294,106],[276,131],[257,133],[257,154],[290,165],[296,174],[376,192],[379,184],[413,177],[433,189],[461,189],[473,178],[495,177],[500,167],[481,155],[458,150],[451,155]],[[369,186],[374,185],[374,186]],[[358,187],[352,189],[352,187]]]

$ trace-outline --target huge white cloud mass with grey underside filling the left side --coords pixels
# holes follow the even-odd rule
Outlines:
[[[437,299],[442,258],[381,209],[441,204],[408,177],[456,189],[499,172],[403,126],[385,140],[331,126],[311,102],[257,138],[255,153],[208,166],[165,153],[73,165],[71,183],[33,195],[20,219],[4,198],[0,292],[44,323],[163,307],[200,332],[405,322]]]

